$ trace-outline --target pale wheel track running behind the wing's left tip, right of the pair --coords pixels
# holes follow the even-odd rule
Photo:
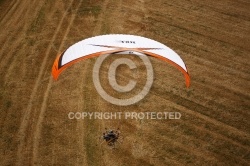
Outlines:
[[[73,2],[73,1],[72,1]],[[66,29],[66,32],[63,36],[63,39],[62,39],[62,42],[59,46],[59,51],[61,51],[63,49],[63,46],[64,46],[64,42],[66,41],[66,38],[69,34],[69,31],[70,31],[70,28],[72,27],[72,24],[76,18],[76,15],[77,15],[77,11],[79,10],[80,6],[82,4],[82,0],[79,2],[78,6],[77,6],[77,9],[76,9],[76,13],[74,13],[72,15],[72,17],[70,18],[70,21],[69,21],[69,24],[68,24],[68,27]],[[71,5],[70,5],[71,7]],[[65,14],[67,14],[67,12],[65,12]],[[49,51],[48,51],[48,54],[50,53],[50,50],[51,50],[52,47],[50,47]],[[32,149],[32,154],[33,154],[33,157],[32,157],[32,164],[36,164],[36,163],[39,163],[38,160],[38,155],[39,155],[39,139],[41,138],[41,128],[42,128],[42,122],[43,122],[43,119],[44,119],[44,113],[46,112],[46,107],[47,107],[47,102],[48,102],[48,99],[49,99],[49,92],[51,90],[51,86],[52,86],[52,81],[53,81],[53,78],[50,77],[49,79],[49,83],[47,84],[47,88],[44,92],[44,95],[43,95],[43,102],[42,102],[42,106],[41,106],[41,109],[40,109],[40,113],[38,115],[38,120],[37,120],[37,124],[36,124],[36,127],[35,127],[35,132],[34,132],[34,136],[33,136],[33,149]]]

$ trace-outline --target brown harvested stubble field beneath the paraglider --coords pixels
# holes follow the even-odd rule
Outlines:
[[[0,0],[0,165],[249,165],[249,9],[247,0]],[[96,58],[53,80],[58,54],[112,33],[145,36],[175,50],[189,69],[190,88],[176,68],[152,57],[149,94],[126,107],[97,93]],[[106,89],[117,95],[105,69]],[[126,85],[131,72],[118,70],[118,83]],[[137,73],[143,84],[143,67]],[[68,118],[92,111],[182,116]],[[100,144],[105,127],[120,128],[124,139],[116,149]]]

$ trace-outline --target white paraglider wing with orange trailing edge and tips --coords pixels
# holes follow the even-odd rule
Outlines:
[[[186,86],[190,77],[186,65],[172,49],[155,40],[135,35],[101,35],[82,40],[66,49],[54,61],[52,75],[57,80],[60,73],[70,65],[102,54],[148,55],[168,62],[185,76]]]

